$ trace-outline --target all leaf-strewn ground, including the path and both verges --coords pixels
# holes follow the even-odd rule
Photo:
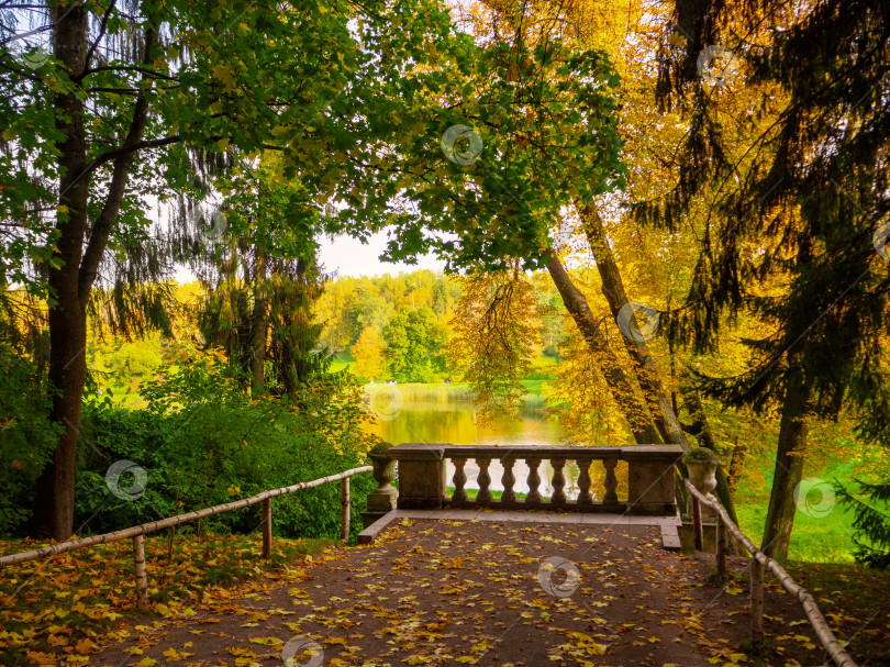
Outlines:
[[[237,548],[236,540],[226,542]],[[257,568],[256,578],[235,586],[196,587],[205,575],[190,569],[194,564],[165,577],[163,564],[152,562],[153,612],[137,618],[121,611],[132,610],[129,553],[116,564],[99,559],[89,564],[94,589],[65,589],[69,594],[59,609],[68,616],[7,610],[2,622],[14,616],[15,636],[4,625],[0,641],[5,646],[43,642],[40,649],[19,644],[21,664],[109,667],[270,667],[282,660],[293,667],[800,667],[824,662],[800,604],[771,580],[765,593],[767,655],[760,663],[749,657],[748,560],[732,558],[734,578],[724,586],[708,583],[713,556],[665,552],[654,527],[403,520],[372,545],[326,548],[311,562],[270,567],[256,557],[256,543],[243,546],[244,557],[232,562]],[[552,557],[577,568],[574,586],[560,568],[542,567]],[[210,559],[229,563],[222,551]],[[118,578],[103,567],[120,568]],[[541,577],[556,594],[544,589]],[[4,581],[3,591],[8,588]],[[82,609],[75,612],[77,602]],[[883,602],[876,598],[878,603]],[[854,655],[857,648],[867,654],[860,665],[886,664],[886,615],[863,605],[841,610],[831,599],[821,604],[836,616],[830,620],[841,638],[853,637]],[[101,618],[105,612],[124,616]],[[30,636],[23,632],[25,613],[33,614]],[[74,614],[89,624],[74,626]],[[90,614],[100,616],[101,625],[93,625]],[[54,646],[53,637],[64,644]],[[73,643],[75,637],[85,643]]]

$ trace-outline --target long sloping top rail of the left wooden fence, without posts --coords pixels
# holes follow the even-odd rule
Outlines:
[[[370,473],[371,470],[374,470],[374,467],[371,466],[361,466],[360,468],[352,468],[349,470],[338,473],[337,475],[321,477],[319,479],[313,479],[312,481],[301,481],[290,487],[282,487],[280,489],[271,489],[269,491],[264,491],[262,493],[257,493],[256,496],[251,496],[249,498],[244,498],[242,500],[236,500],[234,502],[218,504],[212,508],[204,508],[202,510],[196,510],[194,512],[188,512],[186,514],[177,514],[176,516],[168,516],[167,519],[159,519],[157,521],[143,523],[140,525],[135,525],[133,527],[115,531],[113,533],[103,533],[101,535],[93,535],[92,537],[84,537],[82,540],[71,540],[69,542],[60,542],[58,544],[53,544],[51,546],[45,546],[43,548],[33,549],[30,552],[10,554],[9,556],[0,557],[0,567],[7,565],[14,565],[16,563],[27,563],[29,560],[37,560],[40,558],[47,558],[49,556],[55,556],[56,554],[70,552],[73,549],[86,548],[89,546],[94,546],[97,544],[109,544],[111,542],[126,540],[127,537],[145,535],[147,533],[153,533],[155,531],[171,527],[174,525],[179,525],[180,523],[194,521],[196,519],[202,519],[203,516],[212,516],[213,514],[222,514],[223,512],[231,512],[232,510],[246,508],[248,505],[263,502],[264,500],[275,498],[276,496],[285,496],[287,493],[292,493],[301,489],[310,489],[312,487],[319,487],[323,483],[337,481],[338,479],[347,479],[353,475],[359,475],[361,473]]]

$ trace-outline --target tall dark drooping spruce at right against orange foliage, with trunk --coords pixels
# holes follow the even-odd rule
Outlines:
[[[746,341],[747,368],[700,383],[726,404],[781,415],[763,543],[774,556],[788,553],[812,419],[849,412],[859,436],[888,437],[889,22],[874,2],[715,0],[677,2],[664,27],[660,101],[688,132],[676,187],[637,219],[677,231],[714,193],[689,308],[671,329],[707,352],[727,316],[767,324]]]

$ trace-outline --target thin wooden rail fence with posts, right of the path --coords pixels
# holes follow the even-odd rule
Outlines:
[[[692,494],[693,518],[699,518],[699,522],[696,527],[697,542],[700,538],[699,535],[701,535],[701,510],[699,507],[699,503],[701,503],[711,508],[717,513],[717,530],[728,530],[736,537],[736,540],[745,545],[745,548],[748,549],[748,553],[754,558],[750,575],[752,651],[756,654],[763,647],[764,643],[764,568],[768,567],[779,579],[779,582],[782,585],[785,590],[794,596],[801,603],[803,610],[806,612],[806,618],[810,620],[810,625],[813,626],[813,631],[816,633],[819,641],[822,642],[822,645],[825,647],[825,652],[828,654],[832,660],[834,660],[834,664],[838,667],[857,667],[850,655],[841,645],[837,637],[834,636],[831,627],[828,627],[825,616],[822,615],[815,598],[813,598],[810,591],[794,581],[791,575],[789,575],[781,565],[758,549],[748,538],[748,536],[745,535],[745,533],[743,533],[738,526],[735,525],[735,523],[733,523],[732,519],[730,519],[730,515],[726,513],[726,510],[723,509],[723,505],[720,504],[720,502],[711,501],[702,496],[688,479],[685,479],[683,483]],[[720,542],[722,541],[723,534],[725,534],[725,531],[719,533],[717,536],[717,578],[723,578],[726,574],[725,555],[723,555],[721,558],[720,553]],[[701,546],[697,545],[697,548],[700,549]],[[723,568],[722,572],[720,571],[721,567]]]

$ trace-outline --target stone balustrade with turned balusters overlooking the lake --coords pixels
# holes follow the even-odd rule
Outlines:
[[[631,514],[676,514],[675,465],[682,457],[677,445],[628,445],[622,447],[536,446],[511,447],[405,443],[389,448],[398,462],[400,509],[492,508],[492,509],[556,509],[572,512],[627,512]],[[478,468],[476,498],[467,494],[467,462]],[[541,464],[553,468],[548,499],[542,498]],[[492,462],[501,469],[501,498],[492,497]],[[518,462],[522,462],[525,479],[518,479]],[[575,462],[579,468],[577,499],[566,493],[566,466]],[[604,468],[603,488],[592,489],[590,466],[601,462]],[[628,467],[627,498],[618,497],[615,467],[626,462]],[[448,468],[453,466],[453,473]],[[450,479],[446,479],[450,477]],[[450,482],[450,483],[449,483]],[[516,486],[525,491],[518,498]],[[448,494],[448,486],[454,492]]]

